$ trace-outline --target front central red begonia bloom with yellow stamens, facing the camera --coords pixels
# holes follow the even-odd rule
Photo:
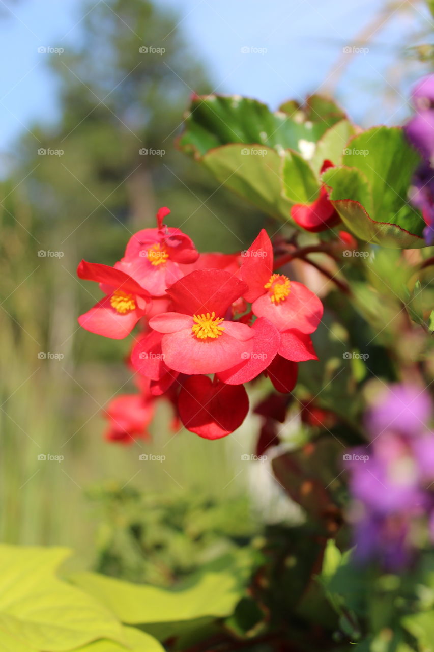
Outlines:
[[[149,320],[152,329],[164,333],[164,363],[182,374],[214,374],[250,353],[254,331],[226,319],[246,289],[222,269],[199,269],[167,289],[173,312]]]

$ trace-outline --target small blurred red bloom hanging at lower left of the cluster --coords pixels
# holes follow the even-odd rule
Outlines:
[[[150,439],[146,428],[154,416],[154,406],[141,394],[122,394],[113,398],[103,412],[109,421],[108,441],[131,444],[137,438]]]

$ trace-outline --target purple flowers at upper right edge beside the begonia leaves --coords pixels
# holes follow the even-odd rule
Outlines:
[[[416,85],[412,102],[416,115],[405,126],[405,133],[424,160],[414,175],[410,200],[424,216],[427,244],[434,244],[434,75]]]

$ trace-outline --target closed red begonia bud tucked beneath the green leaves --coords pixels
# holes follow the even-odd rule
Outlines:
[[[327,168],[333,167],[332,162],[325,160],[321,168],[323,173]],[[310,233],[319,233],[339,224],[341,218],[332,202],[328,199],[327,187],[323,184],[319,190],[319,197],[311,203],[298,203],[291,207],[291,217],[294,222]]]

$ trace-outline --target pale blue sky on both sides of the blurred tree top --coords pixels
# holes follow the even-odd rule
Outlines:
[[[103,0],[99,0],[103,1]],[[95,0],[95,4],[98,0]],[[409,67],[402,82],[394,67],[402,42],[427,13],[396,12],[379,20],[369,52],[354,57],[360,30],[371,24],[379,0],[158,0],[179,14],[179,26],[197,57],[206,63],[218,92],[257,97],[276,108],[286,98],[326,91],[338,62],[337,92],[354,120],[397,123],[407,115],[412,80],[426,72]],[[80,36],[80,0],[0,0],[0,152],[35,119],[55,119],[55,83],[40,47],[66,48]],[[373,29],[371,29],[373,31]],[[242,52],[250,48],[250,53]],[[348,63],[348,65],[347,65]],[[399,83],[398,83],[399,81]],[[376,98],[390,91],[390,104]]]

